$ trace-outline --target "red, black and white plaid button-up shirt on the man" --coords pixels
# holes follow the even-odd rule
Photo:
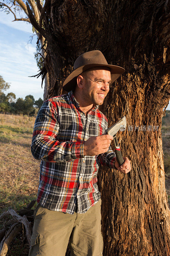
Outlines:
[[[115,168],[115,152],[84,156],[85,140],[102,135],[107,118],[94,106],[87,117],[73,92],[46,100],[34,124],[31,152],[41,159],[37,202],[49,210],[86,212],[100,199],[100,164]]]

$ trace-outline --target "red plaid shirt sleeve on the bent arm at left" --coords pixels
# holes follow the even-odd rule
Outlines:
[[[68,162],[84,158],[85,141],[56,140],[60,125],[57,121],[57,108],[46,100],[36,117],[31,152],[35,159],[48,162]]]

